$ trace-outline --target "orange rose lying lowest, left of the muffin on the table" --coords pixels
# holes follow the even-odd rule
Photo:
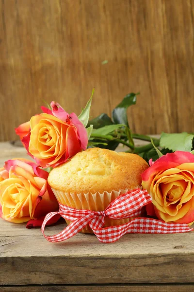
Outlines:
[[[2,219],[15,223],[32,219],[30,227],[40,226],[46,214],[58,210],[48,172],[26,159],[8,160],[4,168],[8,177],[0,182]]]

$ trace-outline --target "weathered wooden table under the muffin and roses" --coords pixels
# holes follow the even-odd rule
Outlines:
[[[26,157],[0,144],[0,164]],[[128,234],[103,244],[89,234],[50,243],[40,228],[0,219],[0,292],[194,291],[194,233]],[[63,230],[61,220],[47,235]],[[41,286],[39,286],[41,285]]]

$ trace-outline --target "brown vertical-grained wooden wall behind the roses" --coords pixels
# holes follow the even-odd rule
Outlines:
[[[0,141],[93,87],[93,117],[140,91],[134,132],[194,131],[194,0],[0,0]]]

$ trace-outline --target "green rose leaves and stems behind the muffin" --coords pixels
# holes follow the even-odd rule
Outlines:
[[[102,113],[88,122],[88,126],[93,125],[94,129],[89,132],[90,141],[88,146],[99,146],[115,150],[119,143],[129,147],[127,152],[133,152],[143,157],[147,162],[149,159],[157,160],[162,155],[176,150],[191,151],[194,149],[194,134],[180,133],[167,134],[162,133],[161,139],[156,139],[141,135],[132,134],[129,128],[127,110],[131,105],[136,104],[136,96],[139,93],[129,93],[116,106],[112,112],[112,118],[106,113]],[[91,135],[91,136],[90,136]],[[135,147],[133,138],[150,141],[151,143]],[[154,141],[154,142],[153,142]],[[158,149],[160,147],[160,150]],[[191,152],[194,154],[194,150]]]

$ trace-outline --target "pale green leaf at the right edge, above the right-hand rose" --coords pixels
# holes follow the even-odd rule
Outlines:
[[[173,151],[191,151],[193,138],[194,134],[186,132],[174,134],[162,133],[160,146]]]

